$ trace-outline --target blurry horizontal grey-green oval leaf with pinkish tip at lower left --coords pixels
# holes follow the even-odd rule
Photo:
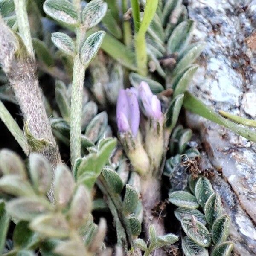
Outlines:
[[[52,211],[53,207],[46,199],[31,197],[9,201],[6,210],[14,218],[31,221],[38,215]]]

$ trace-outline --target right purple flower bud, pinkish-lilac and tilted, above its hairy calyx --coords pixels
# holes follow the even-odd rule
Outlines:
[[[141,82],[138,90],[146,116],[157,120],[162,119],[160,100],[151,92],[149,85],[146,82]]]

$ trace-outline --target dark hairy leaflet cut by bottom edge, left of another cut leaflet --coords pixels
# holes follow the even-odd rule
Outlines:
[[[199,246],[187,236],[182,239],[182,251],[185,256],[209,256],[207,249]]]

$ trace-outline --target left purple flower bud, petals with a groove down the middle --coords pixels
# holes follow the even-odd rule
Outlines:
[[[140,109],[133,89],[119,91],[116,104],[116,120],[120,133],[131,131],[134,137],[137,136],[140,125]]]

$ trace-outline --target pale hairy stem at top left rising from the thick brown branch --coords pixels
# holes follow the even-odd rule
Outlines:
[[[17,23],[19,27],[19,32],[23,42],[26,46],[28,53],[35,58],[32,38],[29,28],[29,18],[26,11],[26,0],[14,0],[15,4],[15,14],[17,18]]]

